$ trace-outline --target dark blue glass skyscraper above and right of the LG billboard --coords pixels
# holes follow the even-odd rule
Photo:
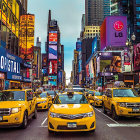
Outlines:
[[[140,0],[111,0],[111,15],[127,16],[128,37],[134,33],[140,42]]]

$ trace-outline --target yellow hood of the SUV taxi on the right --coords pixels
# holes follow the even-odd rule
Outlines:
[[[140,103],[140,97],[115,97],[114,101],[116,102],[131,102],[131,103]]]

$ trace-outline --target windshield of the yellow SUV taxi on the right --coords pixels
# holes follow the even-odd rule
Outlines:
[[[132,89],[114,89],[114,97],[139,97],[137,92]]]

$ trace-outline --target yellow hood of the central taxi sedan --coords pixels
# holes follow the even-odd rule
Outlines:
[[[59,114],[82,114],[93,111],[90,104],[53,104],[50,112]]]

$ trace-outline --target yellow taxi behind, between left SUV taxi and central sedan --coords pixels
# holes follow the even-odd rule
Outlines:
[[[47,96],[47,92],[42,92],[37,97],[37,110],[47,110],[49,108],[50,98]]]

